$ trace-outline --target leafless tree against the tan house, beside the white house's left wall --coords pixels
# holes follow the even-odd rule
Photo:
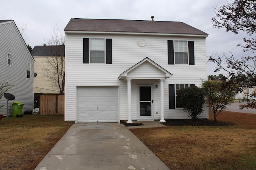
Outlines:
[[[64,93],[65,86],[65,38],[63,31],[54,28],[50,33],[48,46],[44,53],[46,59],[42,65],[43,73],[47,81],[51,82],[53,87],[59,89],[60,94]]]

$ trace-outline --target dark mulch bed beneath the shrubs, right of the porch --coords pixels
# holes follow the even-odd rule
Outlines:
[[[162,123],[166,126],[232,126],[230,122],[214,121],[209,119],[172,119],[165,120],[166,123]]]

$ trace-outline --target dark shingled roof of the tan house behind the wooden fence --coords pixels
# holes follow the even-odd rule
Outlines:
[[[38,56],[65,56],[65,45],[35,46],[31,51],[33,57]]]

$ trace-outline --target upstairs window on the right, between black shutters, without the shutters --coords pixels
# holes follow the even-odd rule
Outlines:
[[[175,64],[188,64],[188,41],[174,41]]]

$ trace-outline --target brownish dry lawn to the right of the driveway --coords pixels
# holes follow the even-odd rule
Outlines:
[[[130,130],[171,170],[256,169],[256,114],[223,111],[217,119],[232,125]]]

